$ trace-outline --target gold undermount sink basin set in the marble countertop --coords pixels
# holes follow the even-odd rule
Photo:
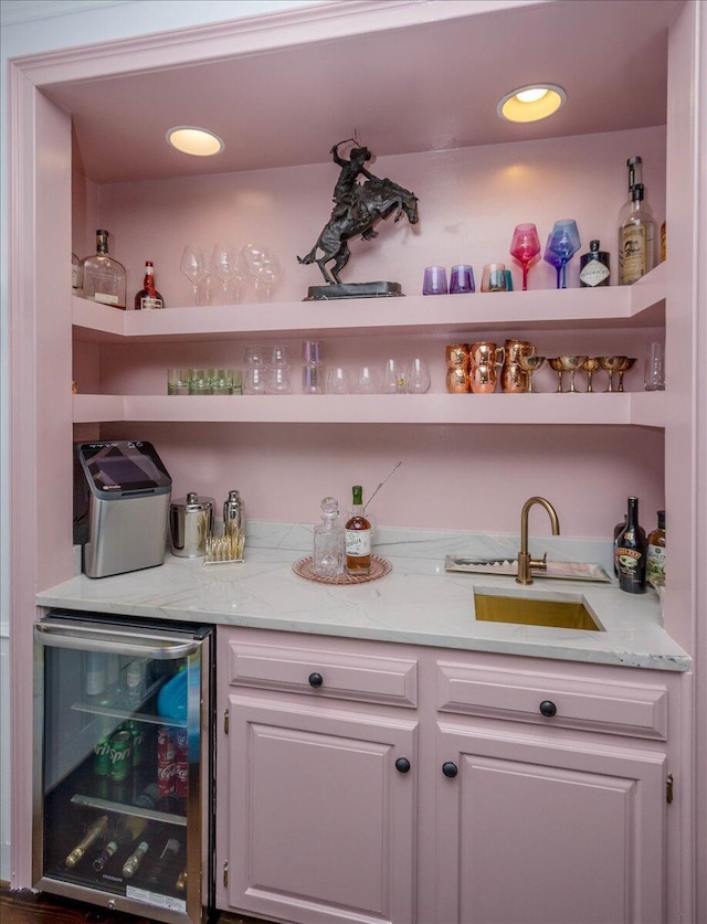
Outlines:
[[[539,599],[538,597],[502,596],[476,592],[474,606],[476,618],[485,623],[515,623],[523,626],[602,631],[581,599]]]

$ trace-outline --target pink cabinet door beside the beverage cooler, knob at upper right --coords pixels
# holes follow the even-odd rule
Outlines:
[[[221,745],[230,907],[302,924],[414,920],[414,721],[231,693]]]

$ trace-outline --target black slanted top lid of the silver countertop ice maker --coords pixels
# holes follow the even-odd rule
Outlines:
[[[146,440],[82,443],[78,459],[91,490],[102,499],[171,491],[172,480],[157,450]]]

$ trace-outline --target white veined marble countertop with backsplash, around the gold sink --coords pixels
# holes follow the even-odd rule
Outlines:
[[[297,576],[295,561],[312,551],[312,527],[251,523],[243,563],[204,566],[167,554],[165,564],[113,577],[83,574],[36,596],[38,605],[80,612],[247,626],[349,638],[521,655],[624,667],[684,671],[688,655],[663,627],[652,590],[621,592],[615,583],[446,572],[447,554],[515,557],[518,538],[415,530],[376,530],[373,552],[390,574],[366,584],[335,586]],[[531,538],[530,551],[552,561],[599,563],[611,573],[603,540]],[[602,631],[479,622],[474,592],[581,599]]]

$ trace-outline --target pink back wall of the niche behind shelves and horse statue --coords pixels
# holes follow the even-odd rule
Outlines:
[[[367,142],[374,148],[374,139]],[[345,278],[393,279],[412,295],[420,291],[422,270],[430,263],[471,262],[481,277],[486,262],[505,259],[510,265],[507,249],[517,222],[535,221],[545,237],[556,219],[567,216],[578,219],[582,252],[590,237],[599,237],[613,259],[616,213],[625,199],[625,160],[634,153],[644,159],[648,198],[659,223],[665,202],[662,127],[381,158],[372,170],[415,191],[421,222],[415,229],[404,221],[389,222],[376,242],[355,242]],[[285,267],[275,298],[296,301],[307,286],[320,282],[318,270],[299,266],[295,255],[305,253],[321,230],[336,177],[336,168],[323,162],[276,172],[93,187],[87,199],[98,202],[96,226],[110,230],[112,252],[128,269],[130,294],[141,285],[145,258],[151,258],[168,305],[189,305],[190,286],[179,273],[183,244],[194,241],[210,247],[226,237],[272,248]],[[578,285],[576,274],[577,261],[572,286]],[[518,282],[517,267],[514,275]],[[553,285],[549,266],[540,263],[531,269],[531,288]],[[386,308],[381,302],[381,311]],[[238,310],[233,308],[236,317]],[[333,314],[345,310],[346,304],[331,304]],[[503,342],[524,334],[548,354],[616,352],[642,358],[662,331],[489,329],[469,332],[469,339]],[[444,391],[449,334],[327,338],[325,332],[323,340],[327,361],[349,368],[365,359],[382,363],[389,355],[424,355],[433,371],[432,391]],[[289,342],[297,355],[299,341]],[[161,394],[169,365],[224,363],[242,367],[242,342],[182,342],[160,346],[159,351],[146,344],[81,344],[74,373],[83,379],[82,391]],[[298,374],[296,367],[295,391]],[[541,370],[537,383],[542,391],[552,390],[550,370]],[[626,376],[626,389],[641,387],[637,364]],[[371,508],[380,525],[517,532],[524,500],[541,493],[556,505],[564,534],[609,537],[626,495],[641,497],[647,528],[664,506],[663,433],[636,427],[194,423],[106,424],[101,434],[154,440],[172,475],[175,495],[197,490],[220,501],[238,487],[249,516],[261,520],[314,522],[325,495],[348,503],[350,486],[357,482],[370,493],[399,459],[403,466]],[[540,523],[538,530],[546,525]]]

